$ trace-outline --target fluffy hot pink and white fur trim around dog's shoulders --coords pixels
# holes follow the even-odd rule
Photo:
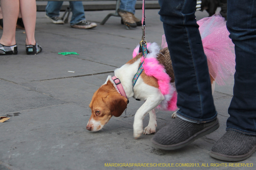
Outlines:
[[[139,54],[139,48],[140,45],[133,50],[133,58]],[[171,78],[165,72],[164,66],[156,59],[157,55],[160,54],[160,48],[155,42],[152,44],[148,43],[147,48],[149,54],[144,58],[143,64],[145,74],[157,79],[159,90],[164,95],[164,100],[156,108],[160,110],[176,111],[178,109],[176,88],[174,84],[170,83]],[[141,62],[142,61],[143,56],[141,57]]]

